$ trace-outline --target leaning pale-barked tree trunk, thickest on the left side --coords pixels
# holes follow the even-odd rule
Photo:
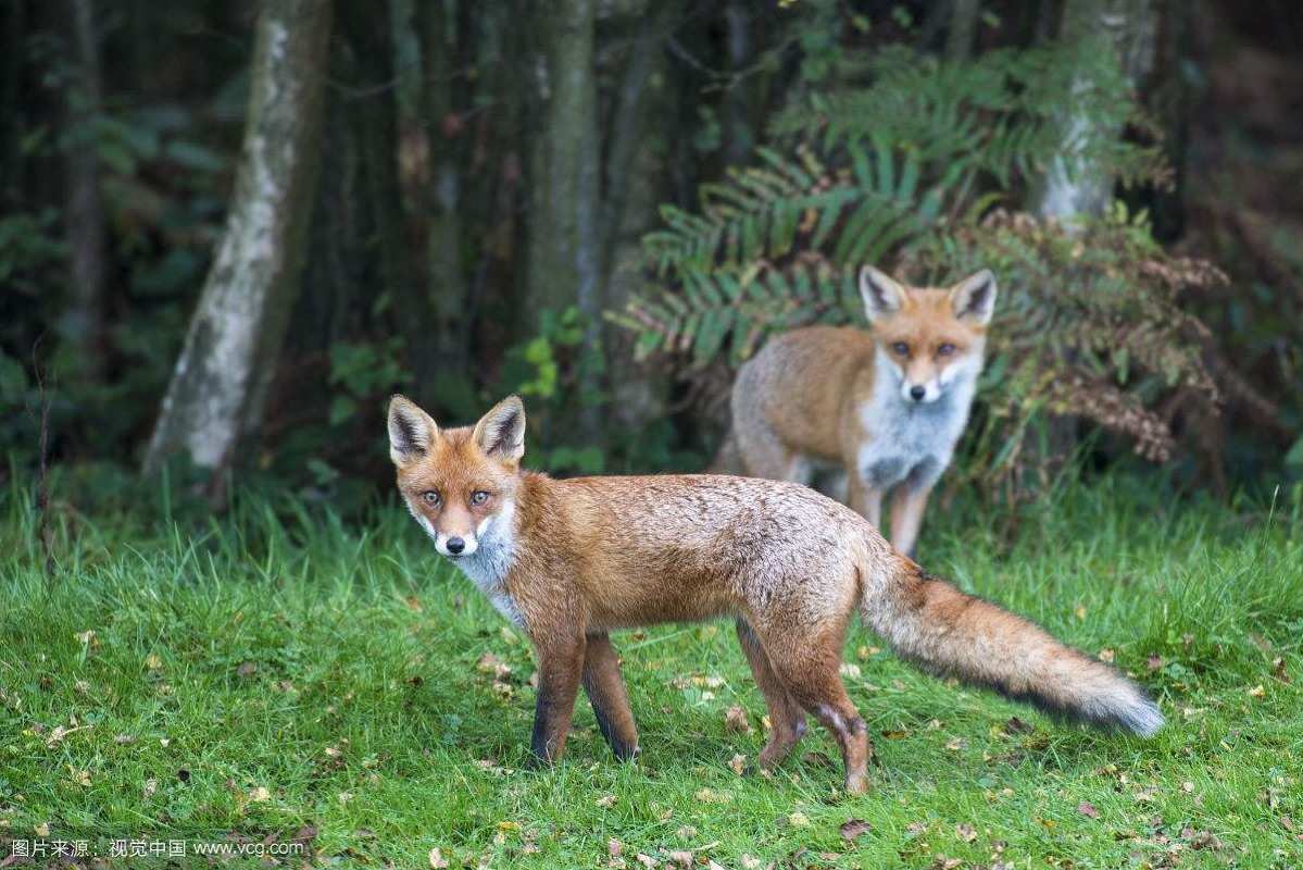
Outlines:
[[[300,290],[330,25],[327,0],[263,0],[259,8],[231,210],[145,455],[146,472],[176,453],[218,472],[261,423]]]

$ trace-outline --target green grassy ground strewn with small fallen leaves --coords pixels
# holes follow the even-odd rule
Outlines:
[[[1111,655],[1170,725],[1055,724],[857,627],[847,683],[877,763],[850,798],[820,730],[771,779],[735,772],[764,703],[727,625],[616,639],[637,763],[612,760],[581,700],[567,760],[523,770],[529,646],[397,507],[345,528],[250,502],[184,531],[65,509],[51,582],[25,494],[5,501],[0,841],[185,839],[182,866],[201,841],[304,843],[294,866],[430,866],[431,849],[453,867],[1303,865],[1296,503],[1173,506],[1106,480],[1029,514],[1012,547],[938,511],[930,570]]]

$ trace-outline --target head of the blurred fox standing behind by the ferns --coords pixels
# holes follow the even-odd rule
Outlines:
[[[936,402],[981,372],[995,277],[982,269],[949,290],[906,287],[872,266],[860,296],[877,343],[877,365],[909,404]]]

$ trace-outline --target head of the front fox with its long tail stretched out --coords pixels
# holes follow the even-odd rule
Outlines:
[[[509,539],[525,407],[507,397],[474,427],[440,429],[410,399],[390,399],[390,458],[412,517],[451,560]]]

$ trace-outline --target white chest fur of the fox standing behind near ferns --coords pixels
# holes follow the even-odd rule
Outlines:
[[[900,397],[900,377],[880,356],[873,394],[860,406],[865,440],[856,457],[857,471],[876,489],[909,479],[930,485],[950,464],[972,408],[981,361],[956,363],[955,372],[936,402],[916,403]]]

